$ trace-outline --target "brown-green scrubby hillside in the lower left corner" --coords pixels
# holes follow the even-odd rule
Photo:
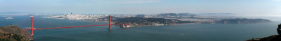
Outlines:
[[[0,41],[30,41],[30,33],[18,26],[0,26]]]

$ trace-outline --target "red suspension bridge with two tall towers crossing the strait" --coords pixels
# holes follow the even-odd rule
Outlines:
[[[25,29],[26,31],[31,31],[31,35],[33,36],[34,35],[34,33],[33,33],[33,31],[35,31],[35,30],[44,30],[44,29],[55,29],[55,28],[77,28],[77,27],[87,27],[87,26],[108,26],[108,30],[109,31],[111,31],[111,25],[122,25],[122,26],[124,26],[124,25],[126,25],[126,24],[111,24],[111,15],[109,15],[108,17],[109,17],[109,19],[108,19],[108,24],[98,24],[98,25],[81,25],[81,26],[63,26],[63,27],[55,27],[55,28],[33,28],[33,18],[34,18],[34,16],[33,15],[31,15],[30,16],[31,17],[31,28],[28,28],[28,29]],[[41,20],[41,19],[39,19],[39,20]],[[41,20],[41,21],[43,21],[43,20]],[[46,21],[44,21],[44,22],[46,22]],[[62,26],[62,25],[60,25],[60,26]]]

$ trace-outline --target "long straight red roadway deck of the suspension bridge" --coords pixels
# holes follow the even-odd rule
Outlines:
[[[121,24],[98,24],[98,25],[84,25],[84,26],[67,26],[67,27],[56,27],[56,28],[77,28],[77,27],[87,27],[87,26],[108,26],[108,25],[121,25]],[[44,30],[44,29],[55,29],[55,28],[33,28],[33,30]],[[25,29],[27,31],[32,29]]]

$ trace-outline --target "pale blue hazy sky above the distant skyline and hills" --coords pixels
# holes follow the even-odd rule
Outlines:
[[[0,0],[0,12],[281,14],[281,0]]]

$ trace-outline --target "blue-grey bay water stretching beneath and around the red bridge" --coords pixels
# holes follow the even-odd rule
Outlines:
[[[64,26],[79,26],[84,24],[107,24],[69,19],[36,18],[61,24]],[[17,24],[29,16],[13,16],[14,19],[0,17],[0,26]],[[60,28],[34,31],[36,41],[243,41],[251,38],[263,38],[276,35],[277,24],[281,22],[258,24],[178,24],[166,26],[139,26],[119,28],[112,26],[91,26],[84,28]],[[20,28],[30,27],[30,19],[19,24]],[[34,28],[59,27],[34,19]]]

